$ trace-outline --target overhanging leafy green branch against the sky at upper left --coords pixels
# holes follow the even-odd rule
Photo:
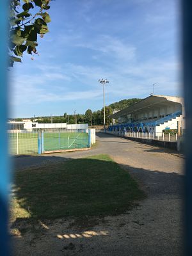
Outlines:
[[[38,35],[43,37],[45,33],[49,32],[47,23],[51,21],[51,18],[46,11],[50,8],[50,1],[10,1],[10,67],[13,67],[15,61],[21,62],[19,57],[22,57],[24,51],[27,51],[28,54],[38,53],[36,51]],[[31,59],[33,60],[33,57]]]

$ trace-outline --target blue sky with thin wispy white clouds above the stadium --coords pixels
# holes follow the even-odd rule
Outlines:
[[[182,95],[179,0],[52,1],[38,55],[10,70],[10,117],[84,113],[152,93]]]

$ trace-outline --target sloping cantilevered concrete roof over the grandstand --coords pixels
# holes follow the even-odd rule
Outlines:
[[[127,108],[124,108],[115,114],[111,115],[111,118],[118,118],[123,115],[127,115],[133,112],[143,112],[145,108],[162,108],[166,106],[172,106],[175,104],[181,104],[183,106],[183,98],[175,96],[166,96],[166,95],[150,95],[149,97],[133,104]]]

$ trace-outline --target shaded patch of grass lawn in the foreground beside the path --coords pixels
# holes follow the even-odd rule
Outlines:
[[[144,197],[108,155],[71,159],[15,172],[11,219],[120,214]]]

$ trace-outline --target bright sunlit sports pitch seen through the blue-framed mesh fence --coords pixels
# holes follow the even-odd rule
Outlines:
[[[9,133],[10,154],[17,154],[17,133]],[[86,132],[44,132],[44,151],[88,147]],[[18,133],[18,153],[38,154],[38,134]]]

